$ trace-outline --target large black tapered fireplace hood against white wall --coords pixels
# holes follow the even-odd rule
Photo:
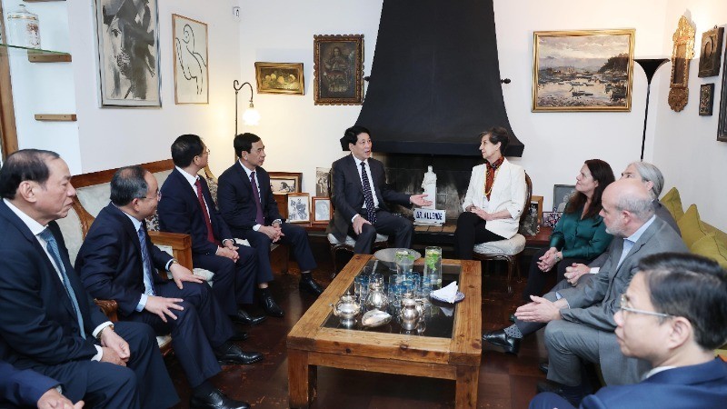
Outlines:
[[[374,152],[431,155],[480,155],[477,135],[504,126],[522,156],[500,78],[492,0],[384,0],[356,125]]]

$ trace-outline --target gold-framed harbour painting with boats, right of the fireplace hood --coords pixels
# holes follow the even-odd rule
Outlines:
[[[631,111],[634,33],[536,31],[533,112]]]

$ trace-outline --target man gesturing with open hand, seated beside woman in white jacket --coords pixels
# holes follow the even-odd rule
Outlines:
[[[346,235],[353,236],[354,252],[359,254],[371,254],[377,233],[393,236],[394,247],[412,246],[412,222],[389,213],[385,202],[407,207],[432,205],[424,199],[426,195],[404,195],[390,189],[383,164],[371,157],[372,145],[371,133],[364,126],[346,129],[341,147],[351,155],[338,159],[331,168],[335,212],[326,233],[341,242]]]

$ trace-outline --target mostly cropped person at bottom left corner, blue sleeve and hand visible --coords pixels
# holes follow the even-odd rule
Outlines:
[[[15,369],[0,360],[0,407],[33,406],[39,409],[81,409],[84,401],[73,404],[60,391],[61,384],[37,372]]]

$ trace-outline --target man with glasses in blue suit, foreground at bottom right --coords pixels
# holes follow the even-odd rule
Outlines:
[[[613,316],[624,355],[653,369],[639,384],[607,386],[582,408],[724,407],[727,364],[714,349],[727,342],[727,272],[693,254],[654,254]],[[538,394],[531,408],[573,408],[556,394]]]

